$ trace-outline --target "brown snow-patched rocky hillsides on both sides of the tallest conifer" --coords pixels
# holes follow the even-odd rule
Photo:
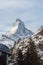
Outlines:
[[[32,40],[36,45],[36,50],[40,55],[41,60],[43,60],[43,34],[42,33],[43,33],[43,28],[41,27],[36,34],[31,36]],[[14,47],[12,48],[12,54],[14,55],[14,57],[17,53],[18,48],[21,49],[24,54],[29,46],[29,42],[30,42],[29,37],[19,39],[14,45]]]

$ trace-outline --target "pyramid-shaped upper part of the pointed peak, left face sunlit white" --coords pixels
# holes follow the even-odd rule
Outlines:
[[[16,19],[12,29],[7,33],[8,36],[16,35],[18,37],[31,36],[32,31],[26,29],[24,23],[20,19]]]

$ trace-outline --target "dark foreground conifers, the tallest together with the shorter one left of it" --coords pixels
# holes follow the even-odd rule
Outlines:
[[[22,50],[17,51],[17,65],[41,65],[40,56],[36,50],[34,41],[30,38],[29,47],[26,53],[23,55]]]

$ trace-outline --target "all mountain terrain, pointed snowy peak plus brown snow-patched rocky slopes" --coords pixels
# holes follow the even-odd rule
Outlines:
[[[2,35],[0,42],[11,48],[13,60],[15,61],[18,48],[22,50],[23,54],[27,51],[30,37],[36,45],[40,59],[43,60],[43,26],[33,35],[33,32],[28,30],[20,19],[17,19],[12,29]]]

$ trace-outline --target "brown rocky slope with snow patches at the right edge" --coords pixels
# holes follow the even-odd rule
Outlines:
[[[32,38],[36,43],[37,50],[41,56],[41,60],[43,60],[43,26],[40,27],[37,34],[32,36]]]

